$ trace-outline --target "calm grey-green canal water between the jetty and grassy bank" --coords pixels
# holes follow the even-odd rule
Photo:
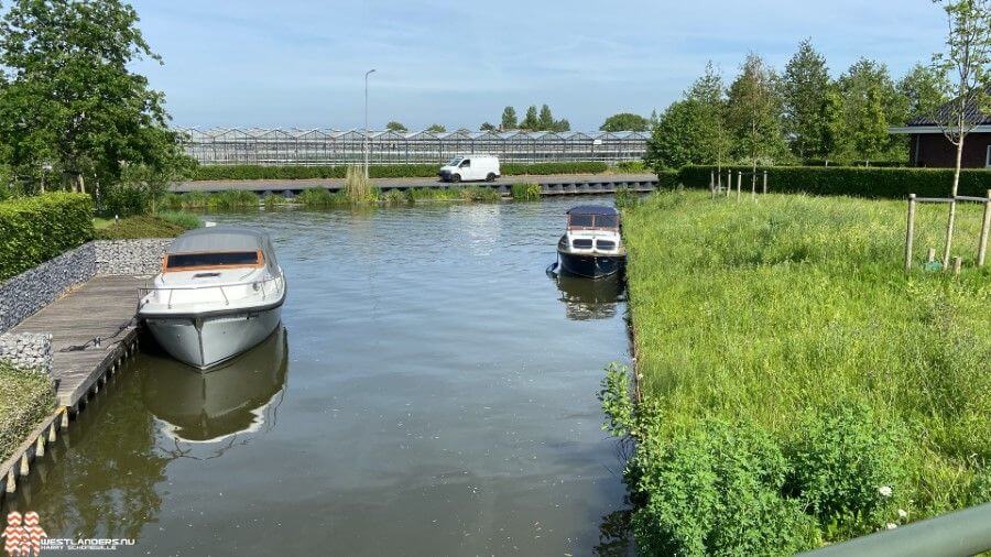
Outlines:
[[[625,303],[545,274],[587,201],[210,217],[272,234],[284,329],[207,374],[144,341],[7,509],[121,555],[623,553]]]

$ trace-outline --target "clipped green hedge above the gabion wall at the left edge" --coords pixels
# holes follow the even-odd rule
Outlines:
[[[0,203],[0,281],[92,239],[92,201],[55,193]]]

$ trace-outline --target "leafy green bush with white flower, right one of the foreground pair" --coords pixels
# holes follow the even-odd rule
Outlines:
[[[896,516],[904,501],[904,439],[897,423],[879,424],[869,406],[816,413],[787,448],[789,491],[803,501],[827,539],[867,534]]]

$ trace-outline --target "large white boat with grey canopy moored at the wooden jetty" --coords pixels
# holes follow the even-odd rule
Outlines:
[[[266,233],[202,228],[165,250],[162,272],[142,288],[138,316],[173,358],[206,369],[268,338],[281,320],[285,293]]]

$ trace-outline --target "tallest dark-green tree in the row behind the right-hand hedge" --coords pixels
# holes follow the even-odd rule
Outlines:
[[[825,129],[820,114],[828,86],[826,58],[816,52],[809,40],[802,41],[785,66],[782,83],[784,132],[791,141],[792,152],[801,159],[825,157]]]

